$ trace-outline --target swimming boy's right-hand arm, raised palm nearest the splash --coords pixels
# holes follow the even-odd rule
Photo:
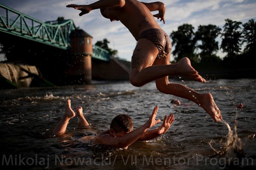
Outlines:
[[[174,121],[174,115],[170,114],[168,117],[165,115],[164,121],[159,128],[147,130],[146,132],[144,132],[143,135],[140,136],[138,141],[151,140],[162,135],[163,133],[166,133],[170,128],[170,126],[172,125],[173,121]]]

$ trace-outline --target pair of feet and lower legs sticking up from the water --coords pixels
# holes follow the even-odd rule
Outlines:
[[[89,123],[84,118],[83,108],[81,106],[76,106],[75,110],[76,110],[76,113],[72,110],[71,101],[68,99],[66,102],[65,113],[63,117],[61,118],[57,126],[52,130],[53,135],[60,135],[62,133],[65,133],[69,120],[75,117],[76,114],[77,114],[77,117],[79,118],[80,126],[83,126],[83,127],[90,126]]]

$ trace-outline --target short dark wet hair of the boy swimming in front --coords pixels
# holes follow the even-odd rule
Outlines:
[[[125,114],[117,115],[110,124],[110,129],[113,129],[116,133],[131,132],[133,130],[132,118]]]

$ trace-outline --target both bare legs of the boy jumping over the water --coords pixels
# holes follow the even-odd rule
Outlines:
[[[145,38],[138,41],[132,55],[131,84],[142,86],[155,80],[160,92],[191,100],[204,108],[215,122],[222,120],[220,110],[210,93],[200,94],[185,85],[169,82],[168,76],[176,75],[205,83],[205,79],[191,66],[190,60],[184,57],[178,63],[170,65],[170,53],[166,57],[157,58],[158,52],[152,41]]]

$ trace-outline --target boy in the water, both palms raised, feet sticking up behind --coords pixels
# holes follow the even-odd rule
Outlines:
[[[79,118],[79,125],[83,127],[89,127],[89,123],[84,118],[83,108],[81,106],[76,107],[76,113]],[[110,124],[110,129],[104,131],[92,139],[95,144],[105,144],[112,145],[118,148],[124,148],[135,141],[146,141],[154,139],[163,133],[166,133],[170,128],[172,122],[174,121],[174,115],[170,114],[168,117],[164,116],[164,121],[159,128],[148,130],[149,128],[155,126],[161,120],[156,120],[158,107],[156,106],[152,112],[152,115],[146,123],[144,123],[139,128],[133,130],[132,118],[128,115],[117,115]],[[65,113],[53,129],[53,135],[60,135],[66,131],[68,122],[71,118],[75,117],[75,112],[71,108],[71,101],[67,100],[65,106]]]

